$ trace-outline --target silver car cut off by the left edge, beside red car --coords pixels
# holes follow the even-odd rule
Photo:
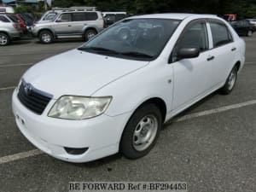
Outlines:
[[[0,46],[8,45],[11,40],[22,36],[20,23],[11,14],[0,14]]]

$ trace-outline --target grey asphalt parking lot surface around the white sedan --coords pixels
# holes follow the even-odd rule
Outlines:
[[[256,34],[244,38],[247,61],[230,96],[207,96],[165,125],[154,149],[139,160],[115,154],[71,164],[34,148],[18,131],[11,96],[38,61],[81,41],[22,40],[0,48],[0,191],[68,191],[73,181],[182,181],[189,191],[256,191]]]

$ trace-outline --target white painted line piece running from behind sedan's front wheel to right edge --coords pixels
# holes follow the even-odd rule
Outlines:
[[[180,121],[188,120],[188,119],[195,119],[195,118],[198,118],[201,116],[206,116],[206,115],[214,114],[214,113],[221,113],[221,112],[228,111],[231,109],[243,108],[243,107],[246,107],[249,105],[254,105],[254,104],[256,104],[256,100],[252,100],[249,102],[241,102],[241,103],[237,103],[234,105],[228,105],[228,106],[224,106],[221,108],[215,108],[215,109],[211,109],[211,110],[207,110],[207,111],[203,111],[203,112],[191,113],[191,114],[184,115],[181,118],[177,118],[176,120],[174,120],[174,122],[180,122]]]

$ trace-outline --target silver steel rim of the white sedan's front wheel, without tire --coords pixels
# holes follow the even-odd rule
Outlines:
[[[158,128],[158,121],[154,115],[147,115],[139,121],[133,133],[133,147],[143,151],[154,142]]]

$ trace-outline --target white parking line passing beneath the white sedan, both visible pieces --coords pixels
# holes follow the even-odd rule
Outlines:
[[[224,111],[228,111],[231,109],[236,109],[236,108],[243,108],[249,105],[254,105],[256,104],[256,100],[252,100],[249,102],[241,102],[241,103],[237,103],[234,105],[228,105],[228,106],[224,106],[222,108],[215,108],[215,109],[211,109],[211,110],[207,110],[207,111],[203,111],[203,112],[199,112],[199,113],[191,113],[191,114],[187,114],[184,115],[181,118],[177,118],[174,120],[169,121],[169,123],[171,122],[180,122],[180,121],[184,121],[184,120],[188,120],[188,119],[195,119],[201,116],[206,116],[206,115],[210,115],[210,114],[214,114],[214,113],[221,113]],[[168,122],[166,123],[166,125],[168,124]],[[33,157],[33,156],[37,156],[38,154],[44,154],[44,152],[40,151],[39,149],[33,149],[30,151],[26,151],[26,152],[21,152],[19,154],[12,154],[12,155],[8,155],[8,156],[4,156],[0,158],[0,165],[3,163],[9,163],[15,160],[21,160],[21,159],[25,159],[28,157]]]

